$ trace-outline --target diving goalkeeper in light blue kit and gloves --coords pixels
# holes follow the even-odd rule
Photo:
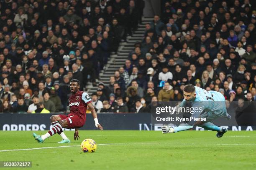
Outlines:
[[[183,90],[184,100],[180,103],[179,107],[184,107],[186,102],[191,102],[192,107],[199,108],[202,107],[202,110],[198,110],[193,114],[194,117],[204,117],[206,121],[189,121],[183,126],[177,126],[174,128],[169,127],[168,125],[162,126],[163,133],[177,133],[179,131],[184,131],[193,128],[193,126],[200,126],[206,130],[216,131],[217,137],[221,138],[224,133],[228,131],[227,128],[220,128],[213,123],[211,120],[214,120],[218,117],[225,117],[230,120],[231,117],[227,113],[225,105],[225,97],[217,91],[206,91],[200,87],[194,85],[186,85]]]

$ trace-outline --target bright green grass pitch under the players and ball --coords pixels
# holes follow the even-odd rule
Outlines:
[[[65,133],[72,141],[70,144],[58,144],[59,135],[39,144],[32,131],[0,131],[0,161],[32,161],[32,168],[28,169],[36,170],[256,169],[255,131],[228,131],[223,138],[216,138],[211,131],[161,134],[160,131],[80,130],[78,141],[72,138],[73,131]],[[79,145],[86,138],[96,141],[95,153],[81,152]],[[43,149],[58,146],[71,147]],[[27,148],[42,149],[3,152]]]

